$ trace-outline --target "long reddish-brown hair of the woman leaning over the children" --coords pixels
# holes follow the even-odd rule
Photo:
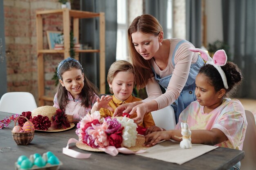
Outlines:
[[[163,29],[158,20],[152,15],[148,14],[140,15],[135,18],[128,29],[130,59],[135,69],[137,88],[141,89],[146,86],[148,79],[153,76],[153,71],[150,65],[150,60],[145,60],[143,57],[141,57],[132,43],[131,35],[137,31],[144,34],[158,36]]]

